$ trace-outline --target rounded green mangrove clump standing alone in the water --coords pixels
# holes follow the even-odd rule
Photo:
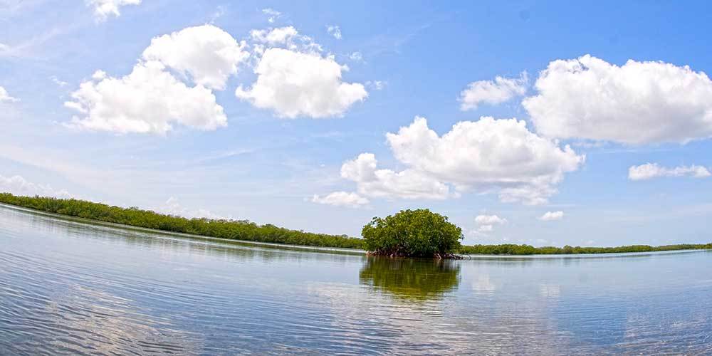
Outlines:
[[[462,230],[428,209],[402,210],[375,217],[361,231],[368,251],[377,255],[432,257],[460,247]]]

